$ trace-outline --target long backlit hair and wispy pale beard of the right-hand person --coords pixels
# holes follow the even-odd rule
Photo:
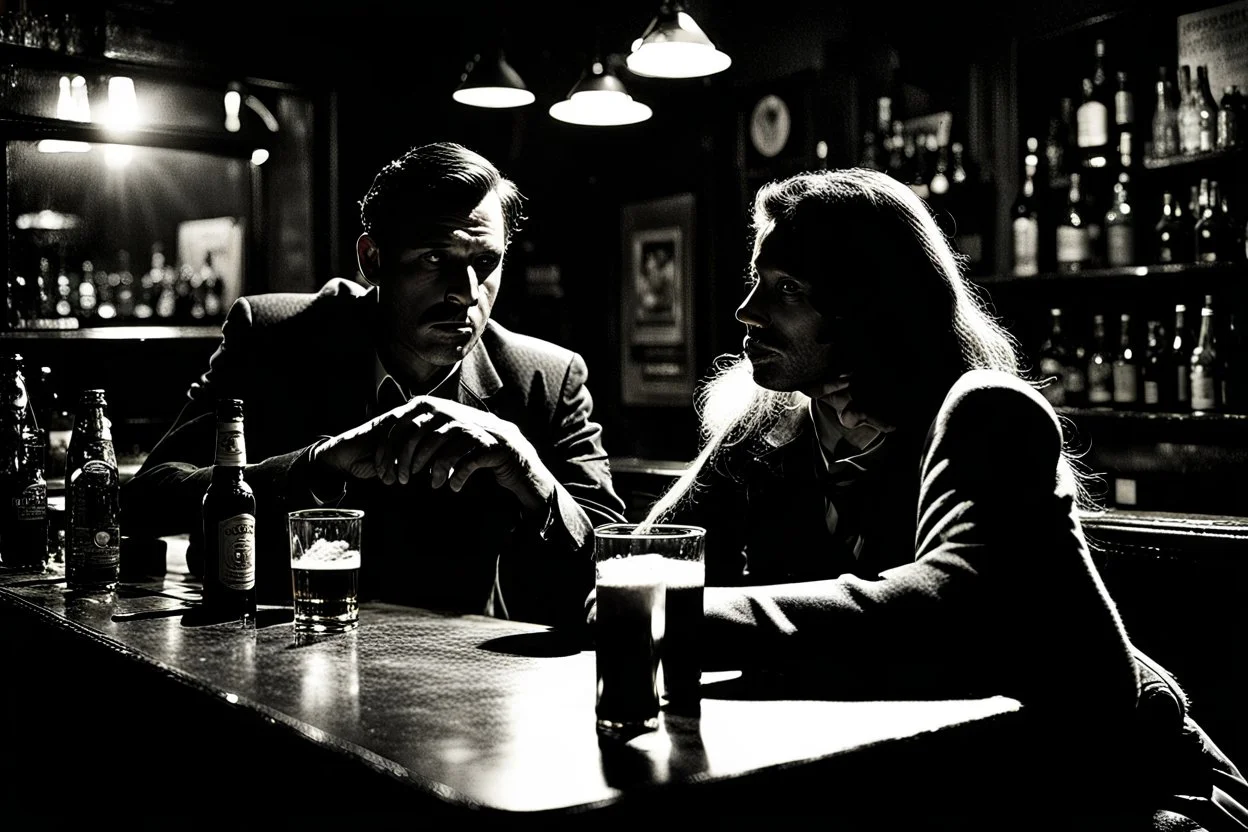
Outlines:
[[[856,294],[854,308],[872,318],[865,331],[881,333],[871,344],[874,360],[894,367],[909,363],[917,370],[907,395],[916,397],[910,404],[917,407],[909,409],[922,429],[953,382],[971,369],[1001,370],[1038,385],[1023,369],[1017,341],[965,277],[965,258],[955,253],[927,203],[907,186],[866,168],[799,173],[756,193],[755,254],[778,225],[799,238],[837,241],[819,244],[839,269],[854,269],[859,278],[846,283]],[[753,267],[750,279],[758,279]],[[826,317],[821,299],[816,287],[811,302]],[[807,402],[802,393],[759,387],[745,356],[720,356],[694,397],[700,452],[655,501],[646,521],[669,518],[696,493],[708,467],[736,445],[764,440],[786,413]],[[1080,505],[1093,508],[1088,478],[1068,443],[1061,475],[1073,486]]]

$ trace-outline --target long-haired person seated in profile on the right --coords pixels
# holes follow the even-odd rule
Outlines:
[[[700,392],[703,452],[651,511],[708,528],[708,665],[1012,696],[1097,726],[1068,763],[1151,750],[1123,775],[1147,793],[1238,777],[1132,646],[1058,418],[926,203],[875,171],[804,173],[759,191],[753,228],[744,356]]]

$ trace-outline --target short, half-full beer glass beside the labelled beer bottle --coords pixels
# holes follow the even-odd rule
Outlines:
[[[358,509],[291,511],[291,583],[295,632],[333,634],[359,626]]]

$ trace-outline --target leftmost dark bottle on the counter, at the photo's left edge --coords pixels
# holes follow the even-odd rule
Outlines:
[[[21,356],[0,357],[0,563],[39,570],[47,560],[47,484]]]

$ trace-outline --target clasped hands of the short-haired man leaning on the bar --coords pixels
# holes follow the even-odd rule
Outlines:
[[[488,470],[527,509],[547,504],[554,476],[513,423],[458,402],[417,397],[331,438],[313,463],[359,479],[406,484],[428,472],[429,485],[458,491]]]

